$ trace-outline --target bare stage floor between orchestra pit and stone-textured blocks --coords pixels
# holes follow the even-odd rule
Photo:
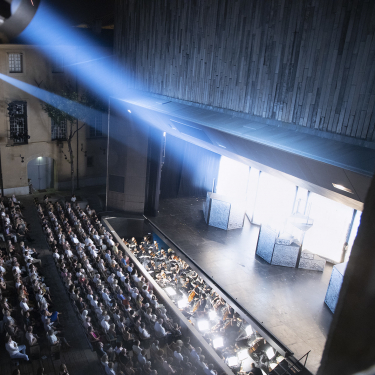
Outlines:
[[[159,216],[149,218],[203,270],[299,359],[309,350],[306,367],[316,373],[332,313],[324,297],[332,272],[270,266],[255,255],[259,227],[245,220],[243,229],[208,226],[204,199],[160,202]]]

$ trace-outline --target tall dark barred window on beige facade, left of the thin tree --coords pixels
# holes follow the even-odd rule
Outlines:
[[[27,143],[27,103],[14,101],[8,104],[10,138],[14,143]]]

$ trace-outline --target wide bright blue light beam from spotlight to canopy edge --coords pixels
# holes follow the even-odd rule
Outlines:
[[[83,85],[101,99],[124,95],[124,71],[116,68],[108,56],[108,48],[70,27],[46,2],[40,4],[34,19],[19,38],[35,45],[51,61],[62,54],[65,71],[77,75]]]

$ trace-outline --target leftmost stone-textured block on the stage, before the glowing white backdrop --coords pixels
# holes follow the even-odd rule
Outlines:
[[[207,193],[203,204],[204,219],[208,225],[231,230],[242,228],[245,219],[245,204],[242,200],[216,193]]]

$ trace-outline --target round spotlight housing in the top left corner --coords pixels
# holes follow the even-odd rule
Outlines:
[[[16,38],[34,18],[40,0],[0,0],[0,43]]]

